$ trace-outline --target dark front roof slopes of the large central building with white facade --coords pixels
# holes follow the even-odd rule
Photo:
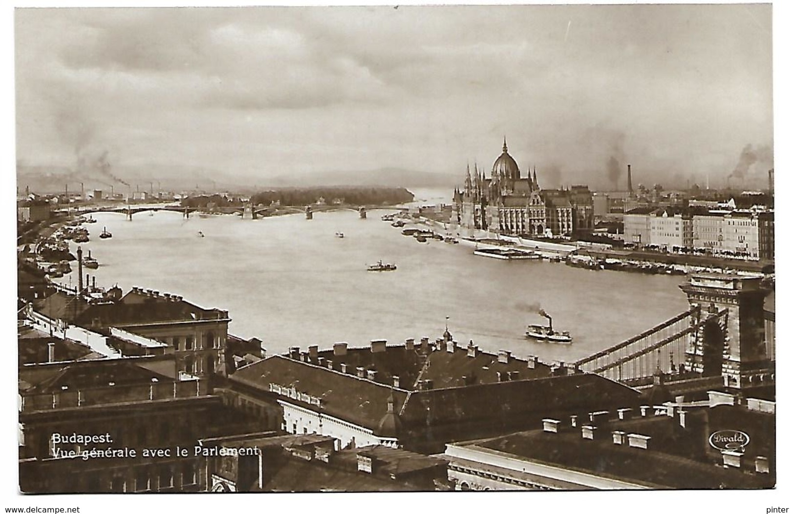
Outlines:
[[[442,355],[442,352],[436,353]],[[466,359],[464,356],[461,358]],[[431,364],[430,369],[433,366]],[[322,412],[370,428],[376,434],[380,420],[387,412],[387,400],[392,390],[388,386],[357,378],[355,374],[341,374],[280,356],[242,367],[231,376],[231,380],[265,393],[269,392],[271,383],[294,387],[299,393],[319,397]],[[630,405],[637,401],[638,394],[634,389],[592,374],[412,393],[394,389],[395,412],[399,414],[403,429],[421,431],[431,426],[445,425],[453,432],[464,423],[476,422],[494,427],[515,423],[526,416],[547,412],[549,405],[565,411]],[[306,402],[290,401],[307,409],[318,409]]]

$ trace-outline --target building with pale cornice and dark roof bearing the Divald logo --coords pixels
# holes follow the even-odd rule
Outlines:
[[[449,481],[456,490],[773,487],[774,401],[707,397],[548,416],[532,431],[450,443]]]

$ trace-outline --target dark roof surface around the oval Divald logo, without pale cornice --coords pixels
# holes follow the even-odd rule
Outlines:
[[[724,469],[719,451],[707,442],[708,435],[719,430],[741,430],[750,435],[746,461],[752,465],[757,455],[771,460],[774,458],[773,415],[727,405],[687,410],[685,428],[677,411],[673,417],[662,414],[611,419],[596,424],[598,428],[591,440],[584,439],[582,429],[570,427],[566,419],[561,420],[559,432],[517,432],[461,446],[654,488],[759,489],[774,485],[773,475]],[[648,448],[616,444],[613,431],[647,436]]]

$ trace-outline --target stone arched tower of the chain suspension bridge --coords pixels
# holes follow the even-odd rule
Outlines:
[[[722,374],[725,385],[738,389],[771,378],[764,332],[764,298],[769,290],[761,287],[761,278],[692,274],[680,289],[692,307],[700,306],[692,324],[727,310],[727,316],[715,317],[690,334],[686,370]]]

